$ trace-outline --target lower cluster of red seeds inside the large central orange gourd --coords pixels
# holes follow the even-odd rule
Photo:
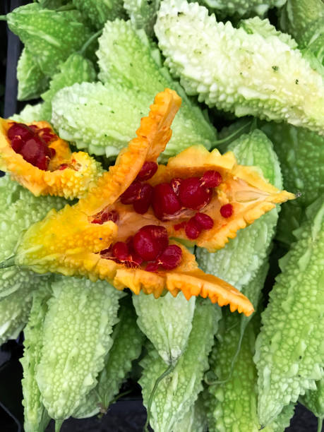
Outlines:
[[[145,225],[127,241],[117,241],[100,252],[102,258],[137,268],[146,262],[145,270],[155,272],[172,270],[181,263],[182,251],[179,246],[169,244],[167,229],[157,225]]]

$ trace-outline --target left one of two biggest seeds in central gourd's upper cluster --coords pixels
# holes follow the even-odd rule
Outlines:
[[[166,215],[174,215],[181,209],[181,204],[168,183],[157,184],[152,197],[152,208],[157,219],[163,220]]]

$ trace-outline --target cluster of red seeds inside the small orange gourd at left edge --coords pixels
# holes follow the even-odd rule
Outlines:
[[[47,170],[49,160],[55,155],[54,148],[49,148],[48,145],[57,139],[50,128],[14,123],[8,128],[7,136],[11,140],[13,150],[22,155],[26,162],[44,171]]]

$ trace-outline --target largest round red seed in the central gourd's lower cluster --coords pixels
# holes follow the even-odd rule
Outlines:
[[[133,238],[135,251],[145,261],[154,261],[168,244],[167,229],[157,225],[145,225]]]

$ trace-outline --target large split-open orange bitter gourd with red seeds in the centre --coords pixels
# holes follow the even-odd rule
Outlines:
[[[221,156],[197,146],[158,166],[180,104],[173,90],[158,93],[137,137],[88,195],[60,212],[52,210],[28,229],[16,264],[40,273],[99,277],[135,294],[143,289],[159,297],[166,288],[174,296],[184,292],[186,299],[208,296],[250,315],[248,299],[200,270],[179,241],[215,251],[238,229],[294,195],[236,164],[232,152]]]

